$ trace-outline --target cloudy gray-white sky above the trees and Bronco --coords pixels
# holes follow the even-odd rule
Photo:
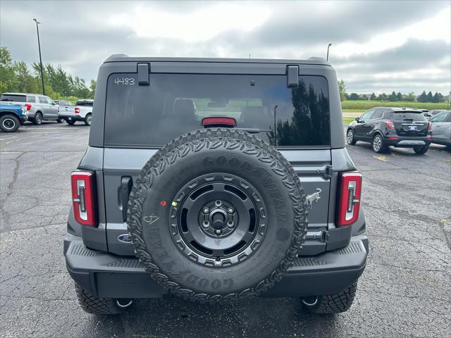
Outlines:
[[[450,1],[0,1],[13,59],[86,80],[111,54],[326,57],[348,92],[451,90]]]

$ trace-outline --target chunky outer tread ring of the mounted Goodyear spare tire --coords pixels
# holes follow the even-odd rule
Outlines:
[[[161,269],[153,262],[152,256],[148,253],[146,244],[141,237],[142,225],[137,213],[142,211],[145,192],[152,187],[153,180],[165,170],[166,165],[174,163],[177,158],[187,156],[190,152],[199,151],[205,147],[216,149],[221,146],[225,149],[239,149],[245,154],[256,156],[261,162],[271,163],[273,172],[279,175],[283,184],[290,189],[290,198],[293,201],[295,214],[295,231],[292,237],[292,245],[285,253],[285,258],[280,262],[278,268],[271,275],[264,277],[255,287],[230,294],[201,294],[171,281],[168,275],[161,272]],[[297,252],[304,242],[305,233],[307,232],[307,200],[302,184],[290,163],[288,163],[285,156],[280,154],[268,142],[242,130],[208,128],[195,130],[173,139],[147,161],[130,193],[127,223],[128,232],[132,236],[137,257],[140,258],[147,272],[151,274],[156,282],[168,289],[172,294],[184,299],[202,303],[214,303],[227,299],[257,296],[273,287],[282,278],[282,275],[297,257]]]

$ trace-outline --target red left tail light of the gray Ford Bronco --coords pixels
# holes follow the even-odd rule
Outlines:
[[[75,220],[82,225],[96,225],[94,173],[74,171],[70,176],[70,181]]]

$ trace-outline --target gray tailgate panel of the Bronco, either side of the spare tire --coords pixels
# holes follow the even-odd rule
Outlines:
[[[129,191],[144,164],[157,149],[114,149],[104,150],[104,191],[106,208],[106,236],[110,252],[120,255],[134,255],[133,246],[118,240],[118,236],[128,232],[125,223],[126,206],[123,191]],[[280,151],[290,161],[299,176],[306,194],[314,194],[321,189],[320,199],[309,210],[309,234],[314,243],[319,243],[321,230],[328,229],[330,177],[330,150],[286,150]],[[319,236],[319,238],[317,238]],[[314,240],[313,240],[314,239]],[[305,246],[308,246],[306,241]]]

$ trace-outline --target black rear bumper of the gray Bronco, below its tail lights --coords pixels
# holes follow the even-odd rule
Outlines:
[[[362,275],[368,239],[359,235],[338,251],[299,257],[266,297],[335,294]],[[168,296],[132,256],[87,249],[81,237],[64,239],[64,256],[70,277],[92,294],[105,298],[161,298]]]

